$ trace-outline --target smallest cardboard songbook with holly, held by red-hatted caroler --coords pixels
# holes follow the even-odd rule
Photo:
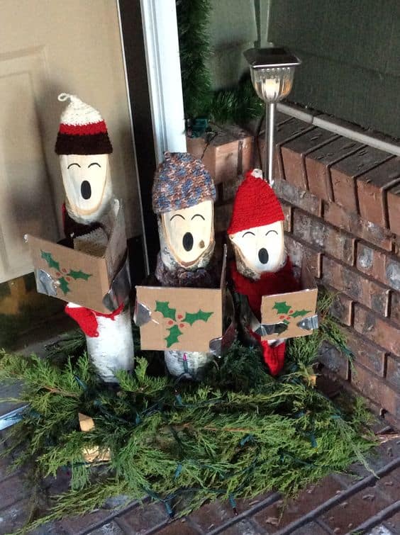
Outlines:
[[[261,323],[266,329],[272,325],[278,327],[272,334],[263,334],[262,340],[302,337],[318,327],[318,289],[305,264],[301,266],[300,281],[303,288],[300,291],[263,296]]]

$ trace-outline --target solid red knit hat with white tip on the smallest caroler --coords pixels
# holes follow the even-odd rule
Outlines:
[[[259,169],[252,169],[238,187],[228,234],[284,220],[277,196],[261,176]]]

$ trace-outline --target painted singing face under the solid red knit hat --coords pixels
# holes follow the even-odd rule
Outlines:
[[[252,271],[262,274],[277,271],[284,261],[283,222],[252,227],[229,236],[235,254]]]

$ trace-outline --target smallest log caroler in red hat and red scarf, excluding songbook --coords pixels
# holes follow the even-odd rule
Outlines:
[[[248,171],[233,203],[228,237],[235,251],[230,276],[236,293],[247,298],[252,313],[260,322],[263,295],[299,289],[291,261],[284,248],[284,214],[271,186],[262,179],[262,171]],[[265,364],[274,376],[284,366],[284,339],[261,341],[260,336],[243,325],[245,334],[262,347]]]

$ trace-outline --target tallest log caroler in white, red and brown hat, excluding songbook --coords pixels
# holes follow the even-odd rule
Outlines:
[[[113,148],[98,111],[74,95],[63,93],[58,100],[69,101],[61,115],[55,144],[66,195],[63,243],[100,257],[119,209],[118,200],[113,198],[109,168]],[[113,372],[133,368],[128,295],[111,314],[74,303],[68,303],[65,312],[86,334],[89,357],[104,381],[115,382]]]

